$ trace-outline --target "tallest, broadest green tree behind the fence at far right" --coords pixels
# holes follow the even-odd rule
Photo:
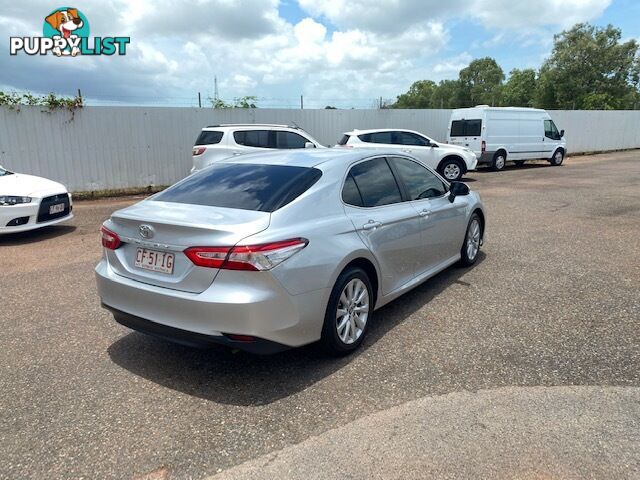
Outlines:
[[[634,108],[640,81],[638,43],[620,29],[588,23],[554,36],[540,69],[536,104],[560,109]]]

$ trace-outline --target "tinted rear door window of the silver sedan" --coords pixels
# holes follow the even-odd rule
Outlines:
[[[364,207],[379,207],[402,201],[398,183],[384,158],[359,163],[351,168],[349,175],[353,177]]]

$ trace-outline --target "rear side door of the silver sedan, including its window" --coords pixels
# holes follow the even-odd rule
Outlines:
[[[349,170],[342,191],[345,213],[380,267],[382,293],[412,280],[417,267],[422,218],[403,201],[398,182],[384,157]]]

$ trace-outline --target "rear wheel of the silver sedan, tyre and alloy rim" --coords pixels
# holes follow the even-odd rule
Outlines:
[[[336,280],[324,316],[322,346],[334,356],[348,355],[364,340],[373,316],[374,294],[367,273],[348,268]]]

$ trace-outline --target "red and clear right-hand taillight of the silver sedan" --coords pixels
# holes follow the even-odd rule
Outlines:
[[[237,247],[191,247],[184,254],[199,267],[270,270],[307,246],[306,238]]]

